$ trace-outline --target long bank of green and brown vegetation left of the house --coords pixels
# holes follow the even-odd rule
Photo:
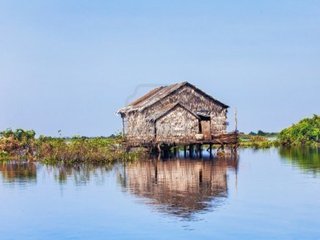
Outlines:
[[[141,151],[127,153],[121,136],[35,138],[34,131],[11,129],[0,133],[0,159],[37,160],[46,163],[110,163],[119,160],[134,160]]]

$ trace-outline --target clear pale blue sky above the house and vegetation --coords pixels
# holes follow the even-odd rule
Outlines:
[[[320,113],[320,1],[0,0],[0,129],[109,135],[128,98],[189,81],[279,131]],[[137,91],[136,91],[137,89]]]

